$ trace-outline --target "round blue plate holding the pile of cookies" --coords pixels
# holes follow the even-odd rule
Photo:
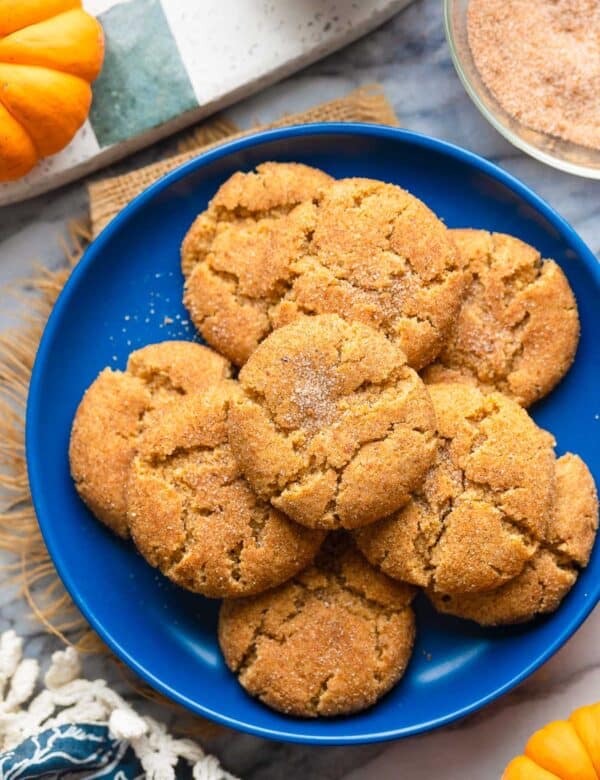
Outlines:
[[[65,586],[104,641],[150,685],[200,715],[297,742],[349,744],[427,731],[510,690],[573,634],[599,598],[598,546],[558,612],[528,626],[483,630],[418,599],[417,645],[401,683],[359,715],[301,720],[244,693],[219,652],[218,603],[147,566],[93,519],[69,477],[69,431],[83,391],[104,366],[123,368],[136,347],[194,338],[181,305],[181,239],[224,179],[265,160],[395,182],[450,226],[513,233],[555,258],[577,295],[582,336],[575,365],[533,414],[555,434],[558,452],[580,453],[599,480],[600,267],[581,239],[531,190],[462,149],[388,127],[308,125],[201,155],[136,198],[88,248],[54,307],[31,380],[27,460],[40,526]]]

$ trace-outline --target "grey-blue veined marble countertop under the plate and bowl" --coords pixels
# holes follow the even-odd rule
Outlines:
[[[251,98],[228,114],[241,126],[268,121],[338,97],[370,82],[385,87],[401,123],[471,149],[521,178],[571,222],[592,250],[600,253],[600,184],[568,176],[525,157],[479,115],[463,91],[450,61],[440,0],[416,0],[379,30],[296,76]],[[174,139],[130,159],[142,165],[175,149]],[[114,172],[126,169],[115,166]],[[86,213],[86,190],[76,183],[0,211],[0,283],[25,277],[36,263],[57,266],[60,237],[67,224]],[[18,314],[6,295],[0,328]],[[0,630],[14,627],[27,636],[26,652],[48,658],[58,648],[28,615],[8,587],[0,589]],[[493,780],[522,750],[528,734],[549,717],[566,716],[600,695],[600,611],[541,670],[482,712],[433,734],[395,743],[343,748],[278,744],[232,734],[207,745],[224,765],[245,780]],[[110,664],[86,662],[89,676],[114,679]],[[140,704],[140,706],[144,706]],[[171,720],[164,710],[160,716]],[[441,768],[442,767],[442,768]]]

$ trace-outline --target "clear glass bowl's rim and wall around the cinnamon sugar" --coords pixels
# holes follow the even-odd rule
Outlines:
[[[567,173],[600,179],[600,151],[526,127],[507,114],[488,90],[469,47],[468,6],[469,0],[444,0],[444,22],[454,67],[473,103],[499,133],[531,157]]]

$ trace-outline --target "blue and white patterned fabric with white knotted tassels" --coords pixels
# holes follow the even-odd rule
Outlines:
[[[40,680],[22,638],[0,634],[0,780],[237,780],[196,742],[171,736],[81,672],[67,647]]]

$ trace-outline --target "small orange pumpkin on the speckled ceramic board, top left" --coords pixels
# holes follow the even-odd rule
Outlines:
[[[0,0],[0,181],[69,143],[103,58],[102,27],[81,0]]]

